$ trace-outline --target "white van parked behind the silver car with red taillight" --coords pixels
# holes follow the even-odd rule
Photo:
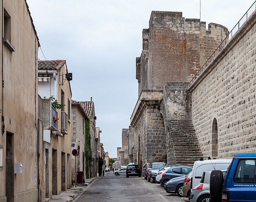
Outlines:
[[[229,167],[232,159],[213,159],[196,161],[191,172],[190,188],[193,189],[200,183],[204,171],[225,170]]]

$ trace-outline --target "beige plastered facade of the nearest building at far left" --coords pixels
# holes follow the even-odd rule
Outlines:
[[[3,182],[0,186],[0,199],[5,197],[5,182],[8,181],[5,176],[5,139],[8,131],[13,133],[14,163],[23,165],[22,174],[14,174],[15,199],[37,201],[38,40],[25,1],[4,0],[3,3],[11,16],[10,40],[15,52],[11,52],[5,44],[3,45],[4,88],[3,106],[0,108],[1,116],[4,116],[5,132],[0,135],[0,145],[4,147],[4,166],[0,168],[0,181]],[[2,21],[1,18],[1,23]],[[9,186],[7,192],[10,193],[8,189]]]

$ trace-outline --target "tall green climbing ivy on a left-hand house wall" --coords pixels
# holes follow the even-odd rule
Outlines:
[[[91,120],[84,122],[84,152],[85,152],[85,175],[86,179],[90,178],[90,167],[91,167],[91,134],[90,134],[90,123]]]

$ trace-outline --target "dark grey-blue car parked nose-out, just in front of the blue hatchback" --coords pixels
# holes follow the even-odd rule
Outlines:
[[[165,184],[166,192],[170,194],[178,194],[179,197],[183,197],[182,187],[183,187],[185,177],[186,176],[180,176],[180,177],[169,180]]]

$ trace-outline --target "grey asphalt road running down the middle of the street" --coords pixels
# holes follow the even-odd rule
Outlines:
[[[113,175],[108,172],[95,180],[76,202],[189,202],[188,198],[168,194],[157,183],[151,184],[144,177]]]

